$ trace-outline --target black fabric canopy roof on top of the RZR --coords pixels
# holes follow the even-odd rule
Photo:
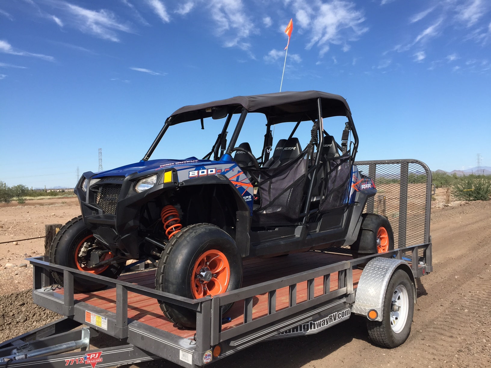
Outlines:
[[[176,110],[168,120],[170,125],[212,116],[213,107],[225,107],[227,112],[261,112],[271,124],[311,120],[318,117],[317,99],[322,101],[322,117],[346,116],[350,107],[344,98],[320,91],[277,92],[255,96],[237,96],[207,104],[189,105]]]

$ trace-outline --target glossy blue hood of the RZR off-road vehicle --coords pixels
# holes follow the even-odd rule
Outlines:
[[[200,160],[195,157],[185,158],[182,160],[178,159],[157,159],[157,160],[149,160],[149,161],[139,161],[135,163],[131,163],[129,165],[117,167],[112,170],[101,171],[97,173],[94,178],[103,178],[106,176],[125,176],[131,175],[133,173],[144,173],[144,172],[152,172],[159,169],[166,169],[171,167],[183,167],[183,166],[201,166],[209,163],[214,163],[217,161],[212,160]]]

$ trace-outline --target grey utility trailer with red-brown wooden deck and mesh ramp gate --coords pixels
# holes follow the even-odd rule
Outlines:
[[[30,258],[34,302],[64,317],[0,344],[0,367],[95,368],[161,358],[182,367],[203,367],[261,341],[320,332],[352,314],[367,318],[374,342],[397,346],[407,336],[387,342],[377,335],[377,326],[389,323],[392,336],[403,329],[409,335],[415,279],[433,271],[431,172],[421,161],[409,159],[356,165],[375,178],[380,194],[369,198],[365,211],[387,217],[394,229],[394,250],[352,259],[349,247],[341,246],[287,259],[245,261],[241,289],[200,299],[155,290],[155,269],[111,279],[49,263],[47,257]],[[55,285],[53,271],[63,274],[64,288]],[[108,287],[74,293],[74,275]],[[401,275],[409,284],[394,281]],[[194,311],[196,328],[178,328],[162,315],[159,301]],[[222,314],[222,307],[231,303]],[[403,317],[404,323],[399,322]],[[101,333],[120,344],[91,347],[90,337]]]

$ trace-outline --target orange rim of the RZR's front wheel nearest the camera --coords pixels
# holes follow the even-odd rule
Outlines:
[[[230,282],[230,265],[219,250],[208,250],[198,257],[191,274],[191,290],[196,299],[225,292]]]

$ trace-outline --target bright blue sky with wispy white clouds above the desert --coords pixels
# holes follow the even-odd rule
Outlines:
[[[141,159],[182,105],[277,92],[290,18],[283,90],[345,97],[358,159],[491,166],[489,1],[0,0],[0,180],[73,186],[98,148],[104,169]],[[204,156],[217,123],[152,158]]]

